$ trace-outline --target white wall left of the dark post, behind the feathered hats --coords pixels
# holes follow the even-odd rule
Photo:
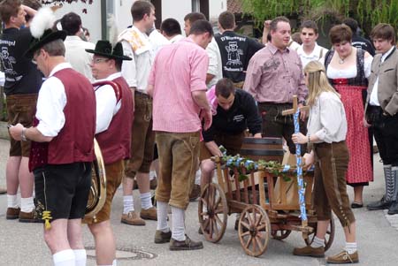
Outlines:
[[[87,9],[87,14],[83,13]],[[96,43],[101,38],[101,1],[93,1],[93,4],[84,4],[82,2],[73,2],[64,4],[62,8],[55,12],[57,19],[61,19],[66,13],[75,12],[81,18],[83,27],[87,27],[90,32],[91,42]]]

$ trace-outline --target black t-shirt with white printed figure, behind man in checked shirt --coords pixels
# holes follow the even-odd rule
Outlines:
[[[216,34],[215,39],[223,63],[223,77],[233,82],[244,81],[246,74],[243,71],[247,70],[250,58],[264,45],[233,31]]]

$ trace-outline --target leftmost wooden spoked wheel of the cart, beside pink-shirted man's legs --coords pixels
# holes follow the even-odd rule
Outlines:
[[[222,239],[226,232],[228,206],[221,186],[214,183],[204,186],[198,204],[198,215],[204,238],[213,243]]]

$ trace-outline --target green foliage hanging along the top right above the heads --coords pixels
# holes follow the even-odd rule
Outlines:
[[[356,19],[368,34],[380,22],[398,27],[397,0],[241,0],[242,9],[261,25],[264,19],[298,15],[301,19]]]

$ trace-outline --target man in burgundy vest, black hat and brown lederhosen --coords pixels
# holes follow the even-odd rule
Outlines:
[[[121,76],[123,47],[118,42],[98,41],[90,64],[96,79],[96,141],[103,154],[106,173],[106,200],[96,219],[85,219],[96,242],[96,264],[116,265],[116,243],[111,228],[111,203],[120,186],[125,160],[130,158],[131,126],[134,117],[133,94]]]

